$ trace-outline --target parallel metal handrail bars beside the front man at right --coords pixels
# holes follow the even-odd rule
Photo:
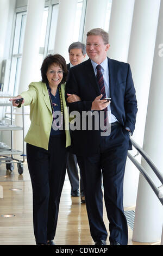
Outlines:
[[[145,153],[145,151],[139,146],[137,145],[133,139],[131,139],[131,143],[134,146],[134,148],[139,151],[140,155],[146,160],[146,162],[149,164],[149,166],[152,168],[152,170],[154,171],[154,173],[156,174],[156,176],[158,177],[158,179],[161,181],[161,186],[156,187],[153,180],[151,179],[151,177],[149,176],[149,174],[146,172],[146,170],[141,166],[141,164],[135,159],[134,156],[132,156],[129,152],[128,152],[128,157],[129,159],[135,164],[135,166],[137,167],[137,169],[140,170],[141,174],[145,177],[145,179],[148,181],[148,184],[152,187],[154,193],[156,194],[156,196],[158,197],[158,199],[160,200],[161,204],[163,205],[163,194],[161,193],[161,191],[159,190],[160,187],[163,186],[163,176],[162,174],[159,172],[158,168],[156,168],[155,164],[153,163],[153,161],[150,159],[150,157]]]

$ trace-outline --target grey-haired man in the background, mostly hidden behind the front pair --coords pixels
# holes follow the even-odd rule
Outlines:
[[[86,56],[85,44],[82,42],[73,42],[68,47],[70,63],[67,64],[67,69],[69,70],[72,66],[76,66],[83,62]],[[82,203],[85,203],[83,180],[80,172],[80,182],[78,175],[77,157],[72,153],[67,155],[67,174],[71,184],[71,196],[79,197]],[[80,184],[80,193],[79,193]]]

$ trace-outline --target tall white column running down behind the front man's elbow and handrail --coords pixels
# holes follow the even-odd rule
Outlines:
[[[131,66],[138,105],[136,126],[132,138],[141,147],[145,130],[159,7],[160,0],[136,0],[131,27],[127,62]],[[121,48],[121,40],[118,42]],[[136,151],[133,150],[130,153],[135,155]],[[141,161],[141,156],[136,157],[136,160]],[[124,175],[124,206],[135,205],[138,182],[139,170],[127,159]]]

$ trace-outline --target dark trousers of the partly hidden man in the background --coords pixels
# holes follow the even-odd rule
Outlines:
[[[80,182],[79,182],[79,175],[78,175],[78,166],[77,166],[77,157],[72,153],[68,153],[67,155],[67,174],[70,180],[72,191],[79,189],[80,183],[80,193],[83,192],[83,180],[82,175],[80,172]]]

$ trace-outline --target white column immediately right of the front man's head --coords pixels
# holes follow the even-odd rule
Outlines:
[[[135,0],[114,0],[111,4],[108,57],[127,62]]]

